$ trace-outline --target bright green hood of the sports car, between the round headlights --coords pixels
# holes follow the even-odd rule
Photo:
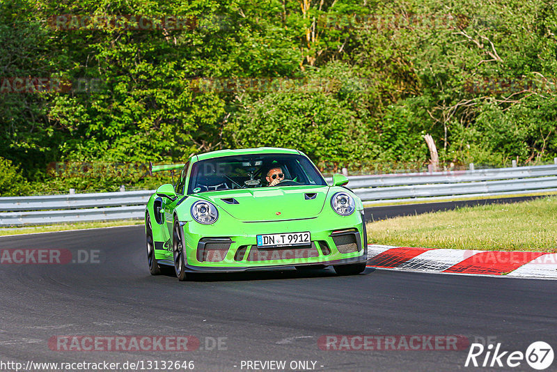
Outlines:
[[[328,186],[258,187],[198,196],[242,221],[283,221],[319,215],[328,190]]]

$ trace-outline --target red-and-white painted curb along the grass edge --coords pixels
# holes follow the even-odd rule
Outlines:
[[[368,245],[368,267],[557,279],[557,254]]]

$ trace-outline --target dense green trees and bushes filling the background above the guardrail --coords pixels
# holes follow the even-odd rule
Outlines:
[[[191,22],[56,29],[64,14]],[[0,153],[32,192],[157,182],[52,177],[50,162],[180,162],[246,146],[299,148],[324,171],[419,167],[424,134],[446,165],[549,162],[556,25],[544,0],[0,0],[0,77],[73,83],[0,93]],[[212,90],[199,78],[273,84]]]

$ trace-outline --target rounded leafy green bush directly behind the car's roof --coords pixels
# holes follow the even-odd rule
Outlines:
[[[372,152],[359,84],[350,66],[333,63],[260,99],[246,95],[223,137],[230,147],[297,148],[322,169],[357,163]]]

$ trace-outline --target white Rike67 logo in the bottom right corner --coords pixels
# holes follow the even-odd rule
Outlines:
[[[544,341],[531,343],[526,348],[526,352],[502,351],[501,343],[497,343],[495,346],[493,343],[489,343],[487,347],[481,343],[472,343],[464,366],[515,368],[526,360],[526,363],[533,369],[542,371],[551,366],[553,359],[553,348]]]

